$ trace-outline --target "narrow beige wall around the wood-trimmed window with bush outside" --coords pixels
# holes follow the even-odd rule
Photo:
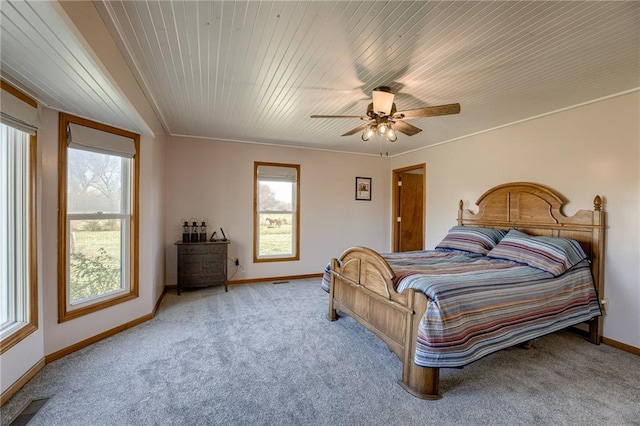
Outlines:
[[[78,319],[58,323],[58,114],[45,110],[45,121],[39,131],[42,148],[43,195],[41,199],[42,234],[42,282],[41,303],[44,309],[44,353],[51,354],[104,331],[115,328],[149,314],[159,297],[158,287],[162,283],[162,261],[160,246],[154,235],[162,233],[162,207],[164,200],[158,197],[164,187],[162,170],[157,170],[157,157],[162,158],[162,140],[158,143],[142,138],[140,146],[140,296],[108,309],[85,315]],[[160,153],[158,153],[160,152]],[[154,169],[154,166],[156,167]],[[157,264],[160,262],[159,264]],[[160,283],[160,284],[158,284]]]

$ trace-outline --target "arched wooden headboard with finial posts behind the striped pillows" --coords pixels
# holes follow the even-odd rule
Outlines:
[[[458,224],[487,228],[516,228],[529,235],[571,238],[580,243],[591,260],[591,270],[598,292],[604,298],[604,229],[602,198],[596,195],[593,210],[579,210],[565,216],[565,200],[542,185],[513,182],[491,188],[476,201],[478,213],[463,209],[460,201]],[[597,341],[602,336],[602,317],[598,317]]]

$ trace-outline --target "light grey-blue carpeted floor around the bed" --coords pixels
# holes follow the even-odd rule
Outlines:
[[[156,318],[48,364],[2,407],[9,425],[640,425],[640,357],[569,332],[441,371],[439,401],[319,279],[167,294]]]

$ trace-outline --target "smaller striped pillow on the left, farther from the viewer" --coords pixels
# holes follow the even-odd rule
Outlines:
[[[436,250],[459,250],[468,253],[487,254],[506,235],[502,229],[454,226]]]

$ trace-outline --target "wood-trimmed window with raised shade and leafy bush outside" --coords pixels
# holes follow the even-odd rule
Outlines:
[[[138,296],[139,136],[60,115],[58,320]]]

